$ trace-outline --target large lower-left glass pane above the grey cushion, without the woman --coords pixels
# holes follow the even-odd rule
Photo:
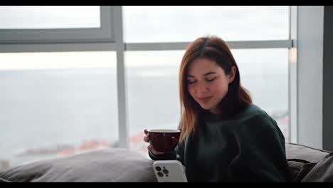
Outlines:
[[[117,147],[115,52],[0,58],[0,169]]]

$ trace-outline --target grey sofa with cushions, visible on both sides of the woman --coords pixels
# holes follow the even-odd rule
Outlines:
[[[333,182],[333,153],[286,144],[294,182]],[[154,161],[113,148],[43,160],[0,171],[0,182],[157,182]]]

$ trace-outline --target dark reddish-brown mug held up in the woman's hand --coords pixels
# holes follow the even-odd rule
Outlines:
[[[180,130],[149,130],[149,143],[157,152],[173,152],[180,133]]]

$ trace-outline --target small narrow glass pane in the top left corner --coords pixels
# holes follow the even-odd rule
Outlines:
[[[100,6],[0,6],[1,28],[100,28]]]

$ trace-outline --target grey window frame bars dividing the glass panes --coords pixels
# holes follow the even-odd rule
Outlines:
[[[290,33],[294,33],[294,28],[297,25],[295,21],[295,12],[297,6],[289,6]],[[125,68],[125,51],[169,51],[169,50],[184,50],[190,42],[172,42],[172,43],[125,43],[123,31],[123,14],[122,6],[101,6],[101,25],[100,29],[82,28],[75,29],[73,33],[78,32],[78,36],[73,36],[73,33],[68,35],[69,31],[64,29],[60,31],[67,38],[59,36],[59,33],[48,38],[51,33],[43,33],[40,38],[29,38],[31,33],[27,31],[1,31],[0,29],[0,53],[17,53],[17,52],[53,52],[53,51],[116,51],[117,53],[117,103],[118,103],[118,130],[120,145],[122,148],[129,148],[129,116],[127,112],[127,80]],[[62,30],[62,29],[60,29]],[[37,33],[42,32],[38,30]],[[14,37],[4,39],[9,36],[9,33],[18,37],[24,36],[21,40],[14,40]],[[6,35],[5,35],[5,34]],[[85,38],[84,36],[92,34],[92,37]],[[288,48],[290,53],[289,59],[289,127],[290,137],[289,142],[297,140],[297,59],[292,58],[293,49],[296,38],[292,34],[287,40],[269,40],[269,41],[226,41],[232,49],[251,49],[251,48]]]

